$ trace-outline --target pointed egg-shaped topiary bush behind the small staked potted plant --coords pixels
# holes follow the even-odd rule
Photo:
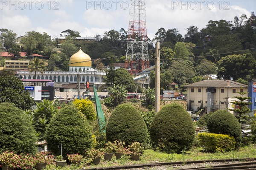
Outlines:
[[[92,133],[86,118],[73,105],[67,105],[55,113],[45,132],[48,150],[55,155],[79,153],[91,147]]]

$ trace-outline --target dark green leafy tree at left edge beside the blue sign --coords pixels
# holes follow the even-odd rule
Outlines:
[[[0,103],[2,102],[14,103],[15,107],[23,111],[34,104],[22,81],[12,75],[0,76]]]

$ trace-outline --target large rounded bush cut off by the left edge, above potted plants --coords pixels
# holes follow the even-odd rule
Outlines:
[[[37,138],[29,116],[10,103],[0,103],[0,153],[35,153]]]

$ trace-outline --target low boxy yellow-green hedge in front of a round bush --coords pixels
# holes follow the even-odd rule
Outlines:
[[[209,152],[227,152],[235,149],[234,137],[215,133],[199,133],[199,144]]]

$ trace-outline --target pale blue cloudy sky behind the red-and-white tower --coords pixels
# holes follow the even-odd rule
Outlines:
[[[256,0],[145,0],[147,34],[152,40],[159,28],[205,28],[209,20],[233,21],[256,14]],[[71,29],[81,37],[128,29],[131,0],[0,0],[0,28],[17,37],[27,31],[46,32],[52,38]]]

